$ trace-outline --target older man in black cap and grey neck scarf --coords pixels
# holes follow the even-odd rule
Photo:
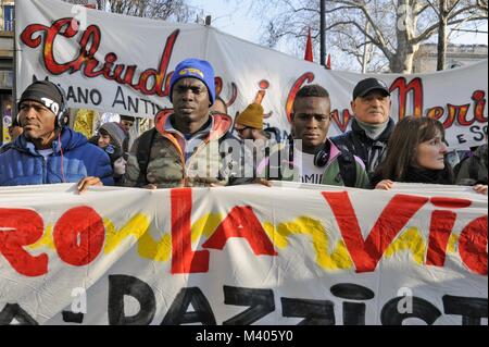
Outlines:
[[[361,158],[369,177],[384,160],[394,127],[389,116],[391,103],[389,88],[383,80],[366,78],[359,82],[351,101],[355,116],[351,131],[331,139],[341,151]]]

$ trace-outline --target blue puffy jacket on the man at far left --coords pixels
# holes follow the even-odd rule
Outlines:
[[[80,133],[64,127],[61,146],[57,138],[52,149],[53,153],[45,160],[33,142],[18,136],[12,147],[0,154],[0,186],[78,182],[86,176],[96,176],[104,185],[114,185],[109,156],[89,144]]]

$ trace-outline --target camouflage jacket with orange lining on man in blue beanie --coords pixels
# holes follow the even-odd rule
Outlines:
[[[165,124],[173,114],[160,112],[155,117],[155,129],[146,179],[140,177],[137,138],[129,151],[124,185],[128,187],[153,184],[158,188],[205,187],[211,184],[230,185],[248,183],[243,176],[243,153],[229,147],[239,147],[241,142],[229,133],[233,120],[226,114],[211,114],[212,128],[193,153],[187,159],[180,144],[185,141],[178,132],[168,132]],[[153,129],[149,131],[152,132]]]

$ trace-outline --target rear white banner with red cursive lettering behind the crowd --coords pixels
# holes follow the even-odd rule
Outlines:
[[[294,96],[304,84],[326,87],[333,100],[330,135],[351,123],[351,95],[362,75],[261,47],[197,24],[176,24],[105,13],[59,0],[18,0],[17,96],[33,78],[49,78],[73,108],[153,117],[171,108],[170,77],[190,57],[209,60],[229,114],[260,94],[265,122],[289,132]],[[434,74],[383,74],[392,91],[392,117],[431,116],[447,128],[450,148],[484,142],[488,61]]]

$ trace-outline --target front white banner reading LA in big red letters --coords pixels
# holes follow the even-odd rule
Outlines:
[[[0,324],[487,324],[487,196],[0,188]]]

